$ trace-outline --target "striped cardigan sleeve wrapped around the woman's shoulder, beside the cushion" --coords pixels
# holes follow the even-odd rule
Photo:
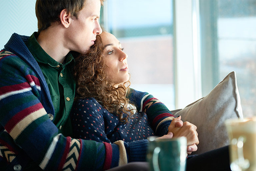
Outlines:
[[[136,105],[138,112],[147,114],[156,135],[163,136],[168,133],[168,126],[175,116],[162,102],[147,92],[134,89],[130,89],[127,97]]]

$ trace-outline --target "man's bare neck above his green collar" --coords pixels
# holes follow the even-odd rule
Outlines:
[[[62,31],[56,27],[41,31],[36,40],[43,50],[59,63],[64,62],[66,55],[70,51],[64,46]]]

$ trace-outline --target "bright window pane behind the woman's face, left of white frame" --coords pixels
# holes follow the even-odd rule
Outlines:
[[[131,88],[174,106],[173,10],[170,0],[108,0],[104,28],[128,54]]]

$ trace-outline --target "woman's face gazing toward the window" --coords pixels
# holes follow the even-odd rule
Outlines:
[[[104,49],[104,57],[107,68],[107,80],[116,83],[118,86],[129,80],[127,54],[123,52],[121,43],[117,38],[107,32],[101,35]]]

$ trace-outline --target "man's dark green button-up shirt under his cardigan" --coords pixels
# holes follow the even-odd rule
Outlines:
[[[76,84],[72,75],[75,60],[69,52],[63,64],[55,61],[39,45],[37,37],[37,32],[34,32],[26,45],[39,64],[47,82],[55,110],[53,123],[58,127],[59,133],[72,136],[70,112],[75,97]]]

